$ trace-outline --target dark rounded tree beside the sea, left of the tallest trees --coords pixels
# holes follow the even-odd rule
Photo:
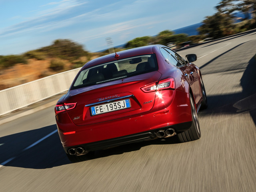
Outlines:
[[[220,12],[207,16],[198,31],[215,39],[234,34],[232,16]]]

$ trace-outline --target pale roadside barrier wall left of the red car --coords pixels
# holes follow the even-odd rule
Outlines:
[[[0,116],[65,92],[80,68],[0,91]]]

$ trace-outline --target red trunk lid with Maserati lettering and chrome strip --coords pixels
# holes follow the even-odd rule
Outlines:
[[[68,110],[67,113],[74,124],[89,125],[151,110],[154,105],[156,92],[146,93],[140,88],[157,82],[161,75],[160,72],[153,71],[112,82],[70,90],[64,102],[77,102],[77,104],[74,109]],[[126,106],[124,102],[127,103]],[[115,106],[114,103],[116,103]],[[103,112],[95,114],[96,109],[99,112],[100,106]],[[124,108],[116,108],[119,106],[124,106]],[[103,110],[103,108],[105,109]],[[107,112],[109,110],[107,108],[116,109]]]

